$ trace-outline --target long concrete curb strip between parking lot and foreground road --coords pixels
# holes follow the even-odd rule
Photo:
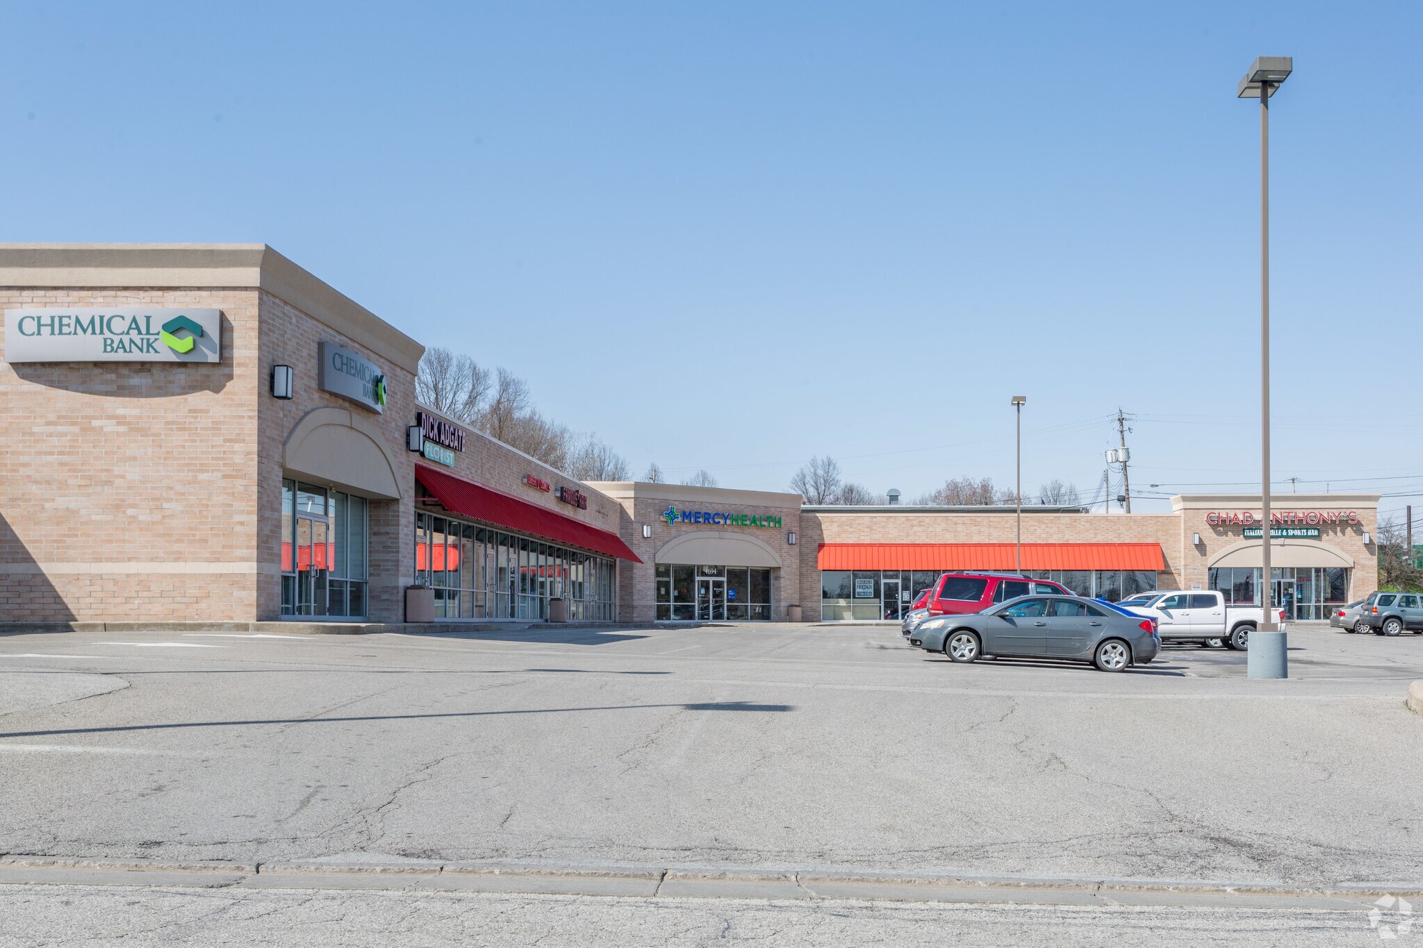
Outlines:
[[[1423,883],[1284,885],[1151,878],[763,871],[754,868],[538,864],[212,863],[134,858],[0,858],[0,885],[165,885],[410,890],[657,898],[877,900],[1059,905],[1220,905],[1358,910],[1380,895],[1423,898]]]

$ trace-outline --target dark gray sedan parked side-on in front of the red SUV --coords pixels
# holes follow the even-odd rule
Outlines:
[[[956,662],[979,655],[1064,658],[1101,671],[1146,664],[1161,651],[1150,618],[1080,596],[1023,596],[986,613],[935,615],[919,623],[909,644]]]

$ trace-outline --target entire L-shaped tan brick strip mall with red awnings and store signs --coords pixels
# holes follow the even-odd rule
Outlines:
[[[1015,567],[1010,507],[579,483],[418,405],[424,348],[265,244],[0,244],[0,623],[877,621]],[[1377,500],[1272,499],[1292,618],[1375,588]],[[1023,571],[1258,601],[1259,497],[1171,507],[1026,507]]]

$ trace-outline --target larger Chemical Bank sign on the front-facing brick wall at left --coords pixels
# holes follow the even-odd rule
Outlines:
[[[6,310],[7,362],[221,362],[221,310]]]

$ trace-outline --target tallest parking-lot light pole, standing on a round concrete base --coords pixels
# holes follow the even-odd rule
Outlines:
[[[1249,678],[1286,678],[1285,631],[1275,624],[1269,570],[1269,97],[1289,77],[1289,55],[1261,55],[1241,78],[1238,98],[1259,99],[1259,502],[1261,601],[1265,614],[1249,637]]]

